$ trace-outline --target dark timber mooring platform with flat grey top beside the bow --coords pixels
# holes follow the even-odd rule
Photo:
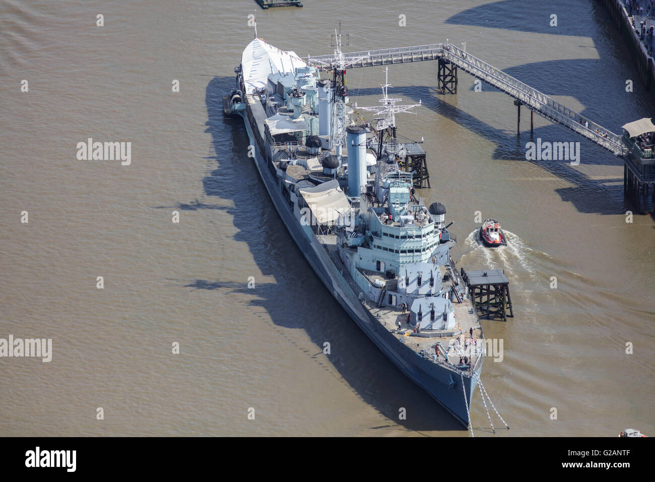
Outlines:
[[[505,276],[504,270],[468,271],[468,273],[464,268],[460,270],[462,280],[468,287],[473,306],[480,318],[507,321],[508,316],[514,317],[510,281]]]

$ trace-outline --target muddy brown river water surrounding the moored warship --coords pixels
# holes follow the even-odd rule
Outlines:
[[[339,21],[346,52],[465,41],[613,132],[654,104],[595,1],[303,3],[0,5],[0,338],[52,338],[50,363],[0,358],[0,435],[469,435],[324,290],[223,119],[248,14],[299,56],[331,53]],[[481,374],[512,428],[494,436],[655,435],[655,224],[626,222],[622,161],[536,116],[534,139],[580,142],[580,165],[527,161],[527,110],[517,137],[511,98],[466,73],[439,95],[436,72],[390,66],[389,94],[422,101],[398,129],[424,138],[421,195],[455,221],[458,266],[510,279],[515,317],[483,321],[504,344]],[[346,77],[377,104],[383,68]],[[88,138],[132,142],[131,164],[77,159]],[[479,245],[476,211],[508,247]],[[491,435],[479,392],[471,417]]]

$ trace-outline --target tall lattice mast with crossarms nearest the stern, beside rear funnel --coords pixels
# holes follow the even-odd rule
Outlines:
[[[341,155],[341,148],[346,147],[346,104],[345,98],[348,95],[346,89],[346,68],[362,62],[368,56],[348,57],[341,51],[341,33],[335,29],[336,49],[331,58],[312,59],[307,58],[311,64],[320,66],[332,71],[332,117],[330,119],[329,147]]]

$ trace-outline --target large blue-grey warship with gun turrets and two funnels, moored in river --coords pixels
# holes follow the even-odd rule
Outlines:
[[[450,255],[456,240],[445,207],[426,207],[414,172],[402,169],[418,143],[398,142],[395,114],[421,104],[398,104],[388,83],[379,106],[350,104],[345,73],[358,59],[335,36],[333,58],[314,62],[255,31],[223,112],[244,120],[271,203],[329,292],[400,371],[468,427],[485,340]],[[362,111],[376,117],[354,123],[365,120]]]

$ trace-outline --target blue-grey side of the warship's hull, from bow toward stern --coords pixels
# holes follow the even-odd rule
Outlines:
[[[290,205],[282,197],[280,186],[276,183],[271,171],[265,167],[265,159],[259,149],[259,143],[254,138],[248,116],[242,115],[242,117],[244,118],[244,124],[248,131],[250,144],[255,146],[253,159],[257,171],[259,171],[259,176],[282,222],[284,222],[291,237],[295,240],[303,256],[305,256],[307,262],[309,262],[314,272],[316,272],[316,275],[318,275],[343,309],[357,323],[360,329],[367,334],[375,346],[405,376],[409,377],[413,382],[428,392],[463,426],[468,427],[468,409],[470,408],[473,389],[477,386],[477,379],[482,364],[479,364],[477,371],[472,376],[462,377],[441,364],[422,359],[415,351],[405,346],[405,344],[398,342],[396,336],[385,329],[373,317],[370,311],[364,308],[356,293],[352,291],[346,279],[337,270],[327,252],[322,248],[322,245],[320,245],[316,238],[310,239],[307,233],[301,229],[300,224],[291,211]],[[462,390],[462,382],[464,390]],[[466,403],[464,401],[464,391],[466,392]]]

